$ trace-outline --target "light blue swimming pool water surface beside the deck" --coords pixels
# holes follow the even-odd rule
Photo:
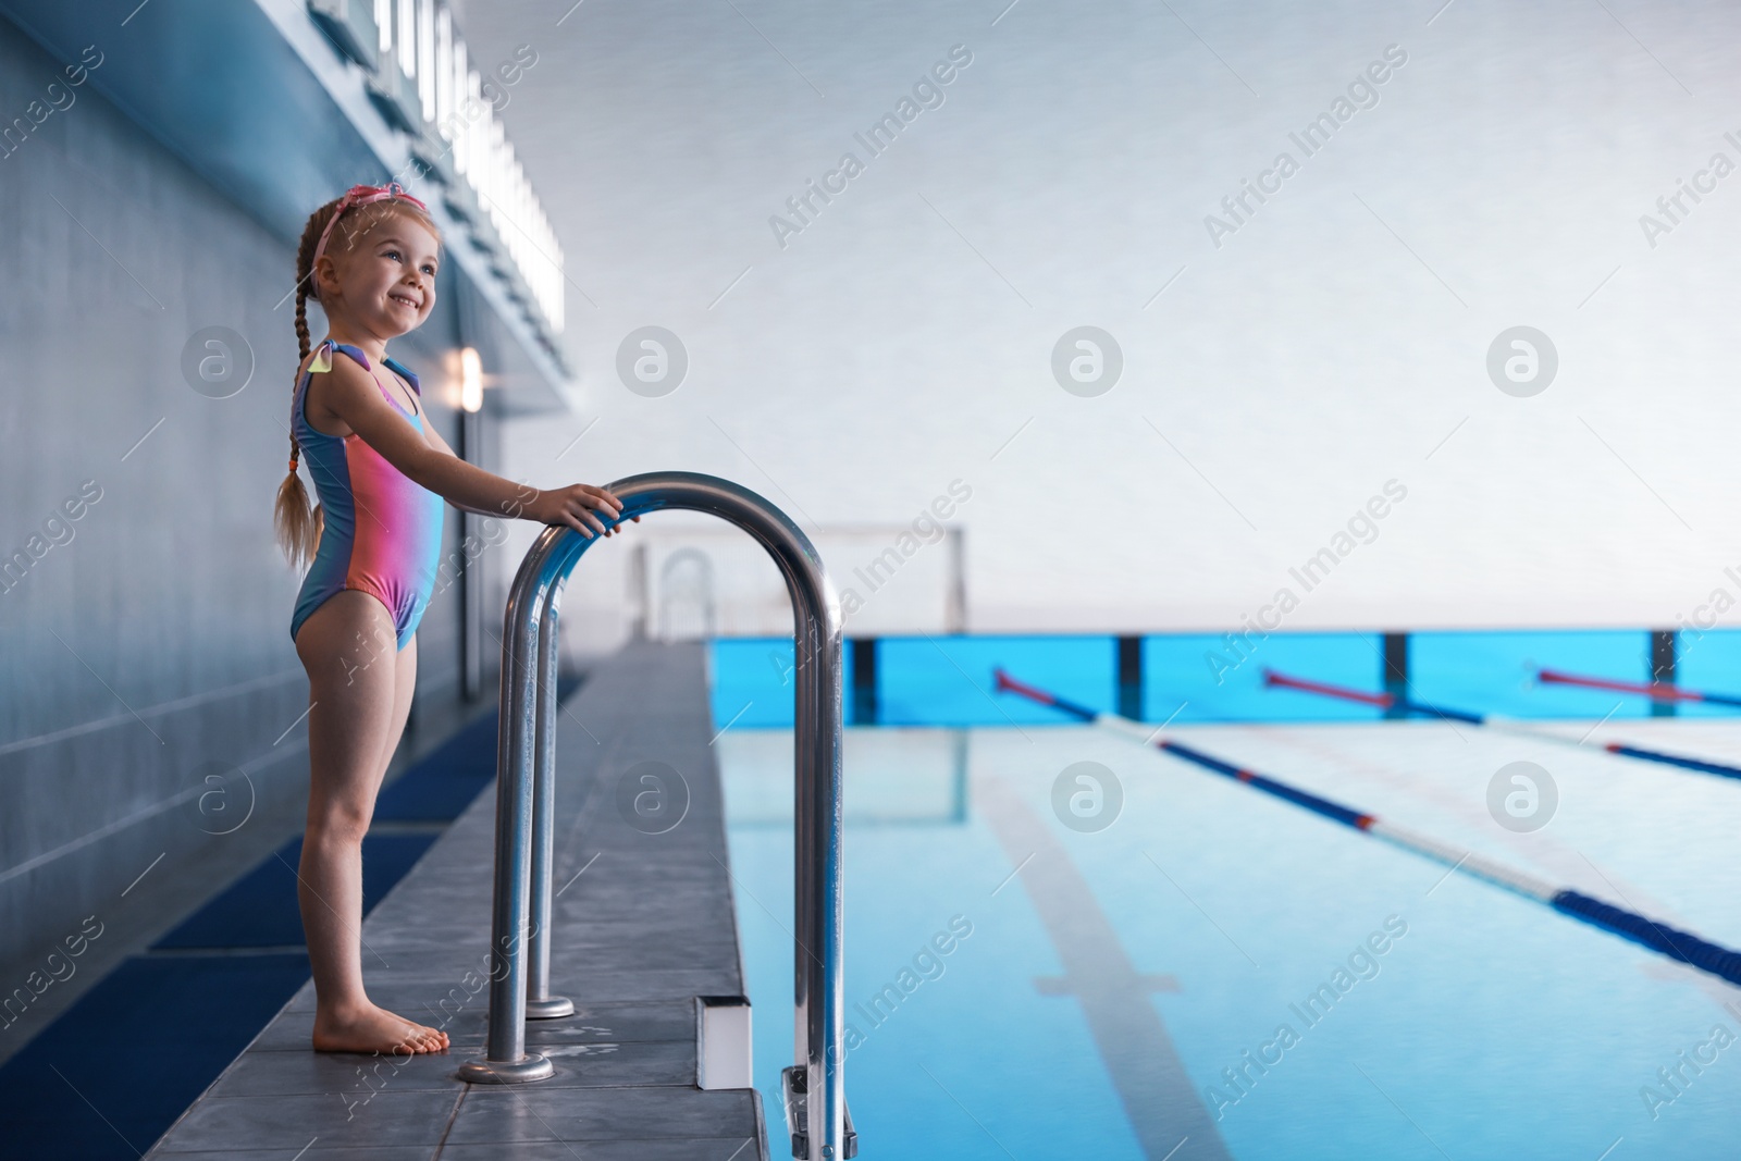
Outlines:
[[[721,691],[721,672],[716,651],[716,714],[740,693]],[[961,665],[956,681],[971,674]],[[1045,675],[1072,681],[1069,667]],[[1090,679],[1085,663],[1076,681]],[[959,705],[978,696],[958,693]],[[944,703],[937,693],[916,703],[926,700]],[[864,1158],[1734,1151],[1741,990],[1008,701],[1015,721],[998,726],[848,731],[846,1076]],[[1365,717],[1172,733],[1741,943],[1741,869],[1724,856],[1741,787],[1469,726]],[[1590,722],[1544,728],[1576,738]],[[1734,719],[1610,719],[1593,735],[1610,736],[1741,759]],[[756,1079],[776,1121],[778,1069],[792,1055],[790,740],[740,719],[716,747]],[[1487,808],[1489,782],[1513,761],[1539,762],[1558,785],[1555,816],[1530,834]],[[1053,806],[1074,762],[1099,762],[1121,787],[1102,830],[1072,829]]]

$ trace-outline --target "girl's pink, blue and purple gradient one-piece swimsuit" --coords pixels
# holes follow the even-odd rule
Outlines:
[[[364,371],[374,374],[369,357],[359,348],[327,339],[315,348],[315,359],[308,362],[308,371],[303,372],[291,399],[291,430],[296,432],[296,444],[303,451],[308,473],[313,475],[324,513],[320,547],[315,550],[313,564],[308,566],[308,576],[303,578],[296,613],[291,616],[291,641],[296,641],[296,630],[327,597],[357,588],[373,594],[387,606],[399,634],[399,648],[404,649],[406,641],[418,630],[430,590],[435,587],[446,503],[383,460],[355,432],[327,435],[308,423],[303,400],[322,348],[345,352],[362,364]],[[418,399],[423,397],[418,376],[393,359],[383,362],[404,376]],[[374,379],[374,385],[381,386],[381,381]],[[407,414],[385,386],[381,395],[387,395],[387,402],[423,432],[421,409],[420,414]]]

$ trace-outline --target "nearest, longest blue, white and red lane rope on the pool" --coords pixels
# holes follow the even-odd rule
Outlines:
[[[1600,898],[1574,891],[1572,888],[1555,886],[1546,879],[1537,879],[1536,876],[1516,870],[1515,867],[1506,867],[1504,863],[1494,862],[1485,855],[1461,849],[1450,842],[1440,842],[1431,836],[1421,834],[1400,823],[1384,822],[1375,815],[1356,811],[1349,806],[1342,806],[1341,802],[1290,787],[1276,778],[1234,766],[1233,762],[1226,762],[1212,754],[1198,750],[1196,747],[1184,745],[1182,742],[1161,738],[1158,736],[1160,729],[1149,729],[1142,722],[1119,717],[1118,714],[1102,714],[1099,710],[1090,710],[1085,705],[1076,705],[1074,701],[1067,701],[1055,693],[1020,682],[1001,668],[994,672],[999,693],[1020,695],[1041,705],[1050,705],[1052,708],[1069,714],[1079,721],[1112,729],[1114,733],[1139,740],[1144,745],[1153,745],[1154,748],[1172,754],[1177,759],[1222,775],[1224,778],[1241,782],[1254,790],[1262,790],[1264,794],[1278,797],[1283,802],[1292,802],[1294,806],[1307,809],[1320,818],[1328,818],[1330,822],[1368,834],[1374,839],[1382,839],[1391,846],[1398,846],[1443,867],[1450,867],[1454,872],[1461,870],[1462,874],[1476,879],[1485,879],[1487,882],[1504,888],[1515,895],[1522,895],[1523,898],[1537,903],[1546,903],[1562,916],[1581,919],[1595,928],[1602,928],[1603,931],[1649,947],[1659,956],[1668,956],[1670,959],[1697,968],[1699,971],[1708,971],[1720,980],[1741,985],[1741,952],[1720,947],[1689,931],[1656,923],[1654,919],[1647,919],[1645,916],[1624,907],[1605,903]]]

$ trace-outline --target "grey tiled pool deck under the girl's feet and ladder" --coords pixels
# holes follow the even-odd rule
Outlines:
[[[552,1079],[454,1079],[487,1022],[486,792],[362,928],[373,999],[446,1029],[453,1048],[313,1053],[308,983],[146,1156],[766,1161],[756,1090],[695,1084],[696,997],[743,994],[712,735],[700,646],[630,646],[561,708],[550,976],[576,1011],[526,1036]],[[663,834],[618,808],[641,762],[688,783],[688,811]]]

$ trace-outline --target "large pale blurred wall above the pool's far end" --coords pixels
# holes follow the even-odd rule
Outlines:
[[[1734,5],[456,12],[481,54],[540,56],[505,117],[566,245],[585,402],[510,432],[538,482],[684,466],[827,529],[961,479],[973,630],[1220,630],[1281,587],[1288,628],[1673,627],[1741,595],[1741,178],[1710,172],[1741,165]],[[782,244],[770,218],[803,223],[787,198],[843,153],[862,172]],[[1297,172],[1264,178],[1281,153]],[[688,357],[658,397],[618,374],[646,325]],[[1097,397],[1053,374],[1081,325],[1123,355]],[[1489,374],[1518,325],[1558,355],[1534,397]],[[1407,500],[1307,594],[1290,569],[1388,480]],[[634,578],[599,555],[568,607],[604,623]]]

